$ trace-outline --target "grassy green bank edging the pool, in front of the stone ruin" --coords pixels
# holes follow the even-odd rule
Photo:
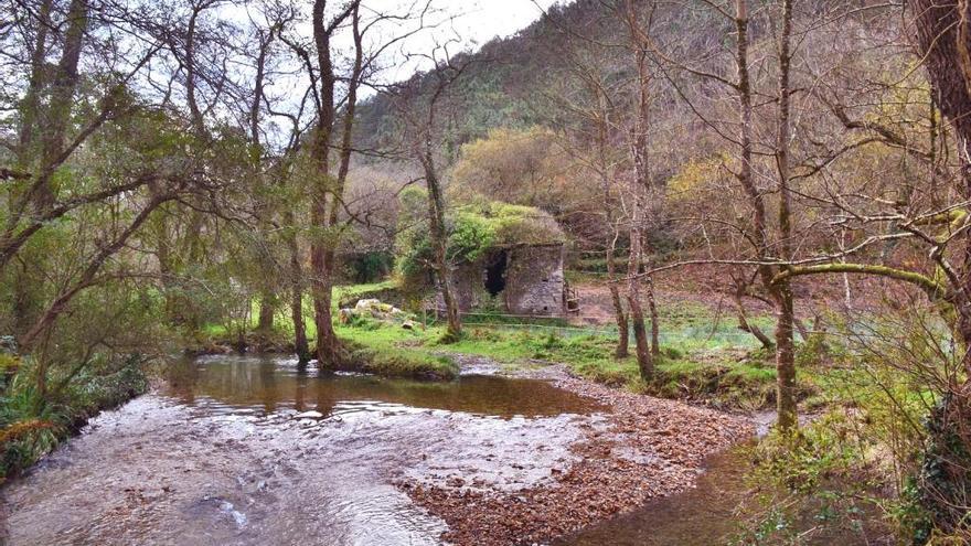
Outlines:
[[[510,371],[559,363],[599,383],[717,407],[758,409],[775,402],[776,371],[771,363],[757,351],[728,350],[721,343],[706,345],[692,340],[666,345],[657,358],[654,378],[644,382],[632,356],[613,357],[616,340],[609,334],[569,335],[557,329],[513,331],[500,324],[467,328],[461,341],[446,345],[439,342],[442,328],[405,330],[370,320],[341,325],[338,333],[354,346],[369,347],[378,356],[377,362],[404,358],[449,371],[455,371],[445,357],[449,354],[489,357]],[[807,384],[803,389],[809,394],[812,387]]]

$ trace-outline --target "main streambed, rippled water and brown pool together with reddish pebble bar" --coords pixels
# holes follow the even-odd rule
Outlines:
[[[8,542],[546,543],[690,488],[748,433],[563,374],[467,370],[428,383],[186,361],[4,486]]]

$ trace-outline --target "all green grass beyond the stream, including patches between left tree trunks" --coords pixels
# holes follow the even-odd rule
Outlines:
[[[333,299],[350,300],[394,288],[393,281],[335,287]],[[305,309],[308,338],[313,340],[309,299]],[[253,314],[255,321],[256,304]],[[477,325],[467,325],[462,339],[450,344],[441,343],[445,329],[435,324],[406,330],[397,323],[359,319],[335,329],[356,368],[380,375],[448,379],[458,374],[448,355],[467,354],[489,357],[510,370],[535,366],[536,361],[565,364],[578,376],[599,383],[716,406],[755,409],[773,402],[775,368],[760,358],[746,357],[756,352],[757,342],[738,331],[733,320],[713,321],[708,310],[685,303],[669,311],[662,321],[664,354],[657,360],[649,383],[640,378],[634,357],[613,357],[617,329],[611,326],[573,328],[561,319],[513,324],[498,313],[486,312],[467,318]],[[753,321],[771,326],[771,318]],[[289,312],[278,313],[276,328],[285,338],[292,334]],[[204,334],[217,338],[225,335],[226,329],[210,325]]]

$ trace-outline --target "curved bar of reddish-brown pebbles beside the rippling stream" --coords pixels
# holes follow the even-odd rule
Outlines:
[[[489,371],[488,361],[460,360],[465,370]],[[595,400],[606,408],[605,426],[587,427],[569,447],[576,462],[554,469],[536,486],[469,482],[458,475],[398,482],[448,524],[442,538],[451,544],[548,543],[694,486],[708,456],[755,433],[744,417],[610,388],[572,377],[563,366],[512,375],[542,377]]]

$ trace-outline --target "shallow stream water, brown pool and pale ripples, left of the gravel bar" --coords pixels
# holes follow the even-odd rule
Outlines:
[[[447,384],[184,363],[0,492],[11,545],[423,545],[444,523],[396,480],[516,490],[574,460],[587,399],[544,382]]]

